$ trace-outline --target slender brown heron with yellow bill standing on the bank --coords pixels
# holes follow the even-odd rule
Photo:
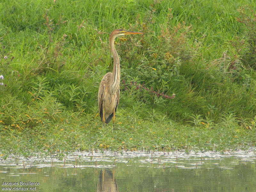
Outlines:
[[[143,34],[141,32],[125,31],[123,29],[115,29],[109,36],[110,51],[113,54],[113,72],[108,72],[100,82],[98,92],[98,108],[100,118],[103,123],[108,124],[113,117],[113,124],[115,125],[115,112],[119,103],[120,97],[120,62],[119,57],[114,46],[114,40],[117,36]]]

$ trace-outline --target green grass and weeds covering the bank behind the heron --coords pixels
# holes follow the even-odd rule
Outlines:
[[[255,146],[255,7],[250,0],[1,1],[0,155]],[[115,28],[145,34],[116,39],[120,104],[115,128],[102,128],[97,92],[112,71]]]

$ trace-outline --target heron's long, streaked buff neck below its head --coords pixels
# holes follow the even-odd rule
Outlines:
[[[110,44],[110,51],[113,54],[113,60],[114,60],[114,65],[113,65],[113,82],[112,82],[112,88],[118,86],[120,84],[120,64],[119,64],[119,57],[116,52],[115,46],[114,46],[114,40],[115,37],[112,37],[109,39],[109,44]]]

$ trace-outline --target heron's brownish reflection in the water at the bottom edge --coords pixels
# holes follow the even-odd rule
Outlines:
[[[97,192],[118,192],[115,180],[115,170],[100,170],[100,177],[97,184]]]

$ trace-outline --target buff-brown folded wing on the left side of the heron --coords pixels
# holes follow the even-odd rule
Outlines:
[[[112,73],[108,72],[104,77],[102,78],[99,86],[99,91],[98,91],[98,108],[99,108],[99,113],[100,113],[100,118],[102,121],[103,118],[103,112],[102,112],[102,101],[103,101],[103,96],[104,92],[106,90],[107,85],[111,82]]]

